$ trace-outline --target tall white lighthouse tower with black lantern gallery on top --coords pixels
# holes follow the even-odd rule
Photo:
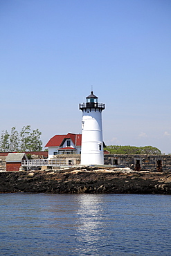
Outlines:
[[[98,97],[87,96],[86,103],[80,104],[82,110],[82,149],[81,165],[104,165],[102,140],[102,110],[105,104],[98,103]]]

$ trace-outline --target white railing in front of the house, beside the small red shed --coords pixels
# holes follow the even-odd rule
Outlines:
[[[58,166],[66,165],[65,159],[32,159],[32,160],[23,160],[21,166]]]

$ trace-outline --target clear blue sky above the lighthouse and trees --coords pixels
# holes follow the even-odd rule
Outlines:
[[[170,0],[0,0],[0,131],[81,133],[93,93],[106,145],[171,153]]]

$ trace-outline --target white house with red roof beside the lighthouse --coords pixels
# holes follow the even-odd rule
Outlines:
[[[48,159],[58,154],[81,154],[81,134],[55,135],[45,147],[48,147]]]

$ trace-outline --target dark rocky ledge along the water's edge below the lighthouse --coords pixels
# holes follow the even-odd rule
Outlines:
[[[0,192],[171,194],[171,174],[98,167],[1,172]]]

